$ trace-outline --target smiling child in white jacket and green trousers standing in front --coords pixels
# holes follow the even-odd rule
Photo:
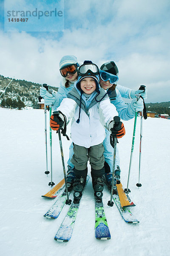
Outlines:
[[[90,61],[79,67],[78,81],[62,100],[57,113],[51,116],[51,129],[58,130],[65,119],[71,122],[71,139],[74,143],[74,155],[71,162],[75,166],[74,192],[80,196],[85,187],[88,173],[88,159],[91,164],[91,177],[95,193],[102,195],[104,168],[105,127],[114,130],[113,117],[118,116],[116,108],[111,104],[105,90],[99,86],[99,69]],[[114,130],[115,131],[115,130]],[[116,129],[116,137],[125,135],[122,122]],[[75,193],[74,193],[75,194]]]

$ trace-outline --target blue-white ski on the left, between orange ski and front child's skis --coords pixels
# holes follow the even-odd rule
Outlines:
[[[71,189],[72,190],[72,189]],[[68,192],[68,195],[71,191]],[[65,201],[67,200],[67,194],[66,192],[62,192],[59,198],[55,201],[55,203],[52,205],[52,207],[48,210],[48,212],[45,213],[45,218],[51,218],[55,219],[58,218],[60,212],[62,211],[62,208],[65,205]]]

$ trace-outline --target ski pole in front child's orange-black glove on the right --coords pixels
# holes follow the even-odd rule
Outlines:
[[[113,118],[115,124],[114,125],[118,125],[120,122],[120,117],[119,116],[114,116]],[[114,138],[114,142],[113,142],[113,138]],[[114,173],[115,173],[115,162],[116,162],[116,143],[117,143],[117,138],[116,137],[112,137],[112,135],[110,135],[110,142],[112,147],[114,148],[113,151],[113,174],[112,174],[112,186],[111,186],[111,199],[110,201],[108,201],[108,206],[113,206],[113,187],[114,187]]]

